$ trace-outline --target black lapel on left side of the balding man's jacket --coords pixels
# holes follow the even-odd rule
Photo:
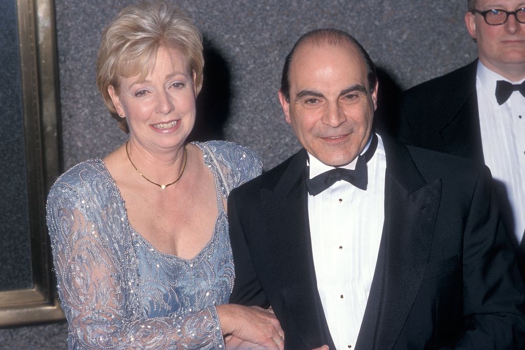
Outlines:
[[[276,283],[281,286],[293,322],[309,348],[334,348],[317,290],[304,182],[306,151],[290,162],[274,191],[261,190]]]

